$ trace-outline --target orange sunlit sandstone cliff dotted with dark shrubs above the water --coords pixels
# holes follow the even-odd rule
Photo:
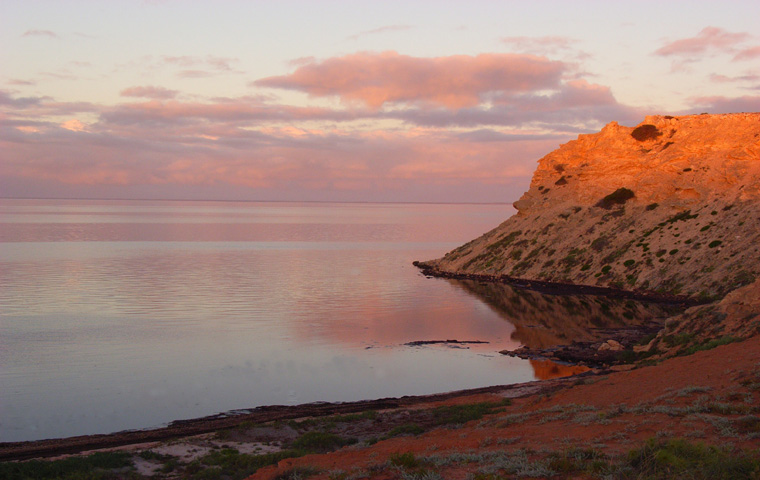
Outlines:
[[[760,274],[760,113],[610,123],[542,158],[515,207],[426,265],[720,298]]]

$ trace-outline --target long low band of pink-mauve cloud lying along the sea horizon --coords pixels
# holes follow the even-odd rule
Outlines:
[[[82,188],[154,185],[222,192],[227,185],[291,196],[321,192],[361,199],[374,192],[380,195],[375,198],[394,199],[387,195],[399,189],[420,195],[454,191],[457,185],[526,182],[535,160],[560,141],[529,136],[512,141],[505,135],[481,142],[436,129],[250,131],[219,124],[95,124],[89,133],[66,130],[79,127],[67,122],[36,133],[16,130],[14,135],[0,128],[0,149],[10,152],[0,176]]]

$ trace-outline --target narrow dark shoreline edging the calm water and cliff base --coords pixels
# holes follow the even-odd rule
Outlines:
[[[609,298],[630,298],[645,300],[655,303],[670,305],[691,306],[700,304],[687,297],[674,297],[659,294],[646,294],[626,290],[616,290],[607,287],[594,287],[584,285],[559,284],[535,280],[516,279],[508,275],[481,275],[461,274],[439,271],[422,262],[413,262],[423,275],[434,278],[449,278],[456,280],[475,280],[481,282],[506,283],[510,286],[534,290],[540,293],[555,295],[598,295]],[[662,325],[658,325],[662,327]],[[624,331],[629,334],[636,331],[640,337],[652,331],[653,325],[640,325],[610,329],[609,334],[616,331]],[[621,340],[622,339],[618,339]],[[409,342],[406,345],[414,346],[428,343],[488,343],[483,341],[458,341],[458,340],[435,340]],[[86,451],[105,448],[119,448],[134,444],[158,442],[176,438],[185,438],[195,435],[206,434],[218,430],[234,428],[243,422],[266,423],[283,420],[302,419],[307,417],[323,417],[329,415],[346,415],[366,412],[368,410],[392,410],[403,409],[415,405],[432,402],[447,401],[462,397],[483,394],[504,395],[509,392],[522,393],[509,398],[545,393],[568,382],[578,381],[578,378],[589,375],[601,375],[610,373],[612,365],[625,363],[616,361],[610,356],[615,352],[606,352],[601,358],[591,359],[590,355],[596,352],[591,348],[593,342],[573,342],[567,345],[553,345],[546,348],[530,349],[522,347],[514,351],[500,351],[498,353],[507,356],[523,358],[526,360],[548,360],[560,364],[588,366],[590,369],[583,373],[567,377],[533,380],[530,382],[515,383],[509,385],[491,385],[464,390],[452,390],[426,395],[405,395],[401,397],[384,397],[366,399],[352,402],[328,402],[318,401],[299,405],[262,405],[254,408],[235,409],[228,412],[220,412],[203,417],[173,420],[161,427],[148,427],[145,429],[124,430],[104,434],[77,435],[72,437],[47,438],[19,442],[0,442],[0,461],[29,460],[34,458],[47,458],[59,455],[79,454]],[[631,343],[631,341],[626,342]],[[569,352],[569,353],[568,353]]]

